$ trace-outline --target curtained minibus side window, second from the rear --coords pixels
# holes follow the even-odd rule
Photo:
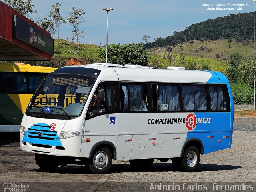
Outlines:
[[[182,103],[184,111],[206,111],[206,87],[182,86]]]

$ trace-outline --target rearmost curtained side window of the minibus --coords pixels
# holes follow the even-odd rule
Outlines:
[[[226,111],[226,90],[222,86],[209,86],[210,109],[212,111]]]

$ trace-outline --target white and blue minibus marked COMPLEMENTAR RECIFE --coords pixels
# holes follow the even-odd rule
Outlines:
[[[48,171],[79,164],[99,174],[112,160],[146,167],[158,159],[192,172],[200,155],[231,147],[233,118],[230,84],[220,72],[67,66],[33,94],[20,148]]]

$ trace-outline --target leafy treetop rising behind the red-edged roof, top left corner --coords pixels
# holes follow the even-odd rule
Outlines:
[[[18,11],[24,17],[28,17],[32,13],[36,13],[37,10],[33,10],[34,5],[32,0],[3,0],[3,2]]]

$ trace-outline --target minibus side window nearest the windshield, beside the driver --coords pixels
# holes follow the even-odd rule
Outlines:
[[[102,83],[96,89],[90,106],[88,114],[90,116],[100,113],[109,113],[116,111],[116,93],[114,85],[105,85]]]

